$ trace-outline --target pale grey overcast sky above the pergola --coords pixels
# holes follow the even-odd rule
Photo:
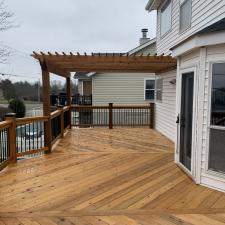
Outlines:
[[[147,0],[5,0],[18,28],[0,34],[12,49],[0,73],[40,78],[32,51],[127,52],[138,45],[141,29],[155,37],[155,13]],[[1,76],[0,76],[1,78]],[[12,80],[25,78],[13,78]]]

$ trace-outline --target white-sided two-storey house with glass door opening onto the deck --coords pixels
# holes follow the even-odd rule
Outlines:
[[[178,60],[157,74],[156,129],[196,183],[225,191],[225,1],[150,0],[146,9],[157,10],[157,54]]]

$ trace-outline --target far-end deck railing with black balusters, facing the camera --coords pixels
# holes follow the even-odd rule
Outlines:
[[[72,126],[154,127],[154,104],[149,106],[72,106]]]

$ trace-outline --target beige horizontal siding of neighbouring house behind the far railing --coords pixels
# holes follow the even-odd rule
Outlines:
[[[144,80],[155,74],[104,73],[96,74],[93,82],[93,105],[148,105],[144,100]]]

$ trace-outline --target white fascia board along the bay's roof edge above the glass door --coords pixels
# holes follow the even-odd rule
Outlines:
[[[196,48],[209,45],[224,44],[225,32],[214,32],[204,35],[196,35],[172,50],[172,56],[178,57]]]

